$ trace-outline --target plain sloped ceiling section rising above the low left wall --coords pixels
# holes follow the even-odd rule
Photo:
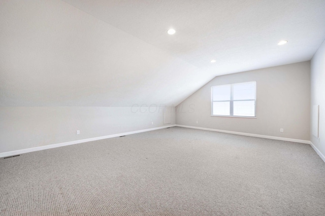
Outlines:
[[[0,1],[0,106],[175,106],[212,78],[61,0]]]

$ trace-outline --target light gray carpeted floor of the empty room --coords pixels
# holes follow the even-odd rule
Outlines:
[[[0,215],[325,215],[306,144],[173,127],[0,159]]]

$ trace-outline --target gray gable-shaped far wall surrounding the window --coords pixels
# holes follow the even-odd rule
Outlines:
[[[257,118],[211,117],[211,86],[248,81]],[[176,124],[309,140],[310,61],[216,77],[176,107]]]

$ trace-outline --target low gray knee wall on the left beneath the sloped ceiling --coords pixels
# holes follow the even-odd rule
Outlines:
[[[170,108],[175,124],[175,107]],[[163,107],[156,106],[4,106],[0,107],[0,153],[161,126],[166,126]]]

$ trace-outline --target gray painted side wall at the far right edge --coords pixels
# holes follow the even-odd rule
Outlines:
[[[311,105],[319,105],[319,139],[312,135],[313,145],[325,155],[325,42],[311,59]]]

